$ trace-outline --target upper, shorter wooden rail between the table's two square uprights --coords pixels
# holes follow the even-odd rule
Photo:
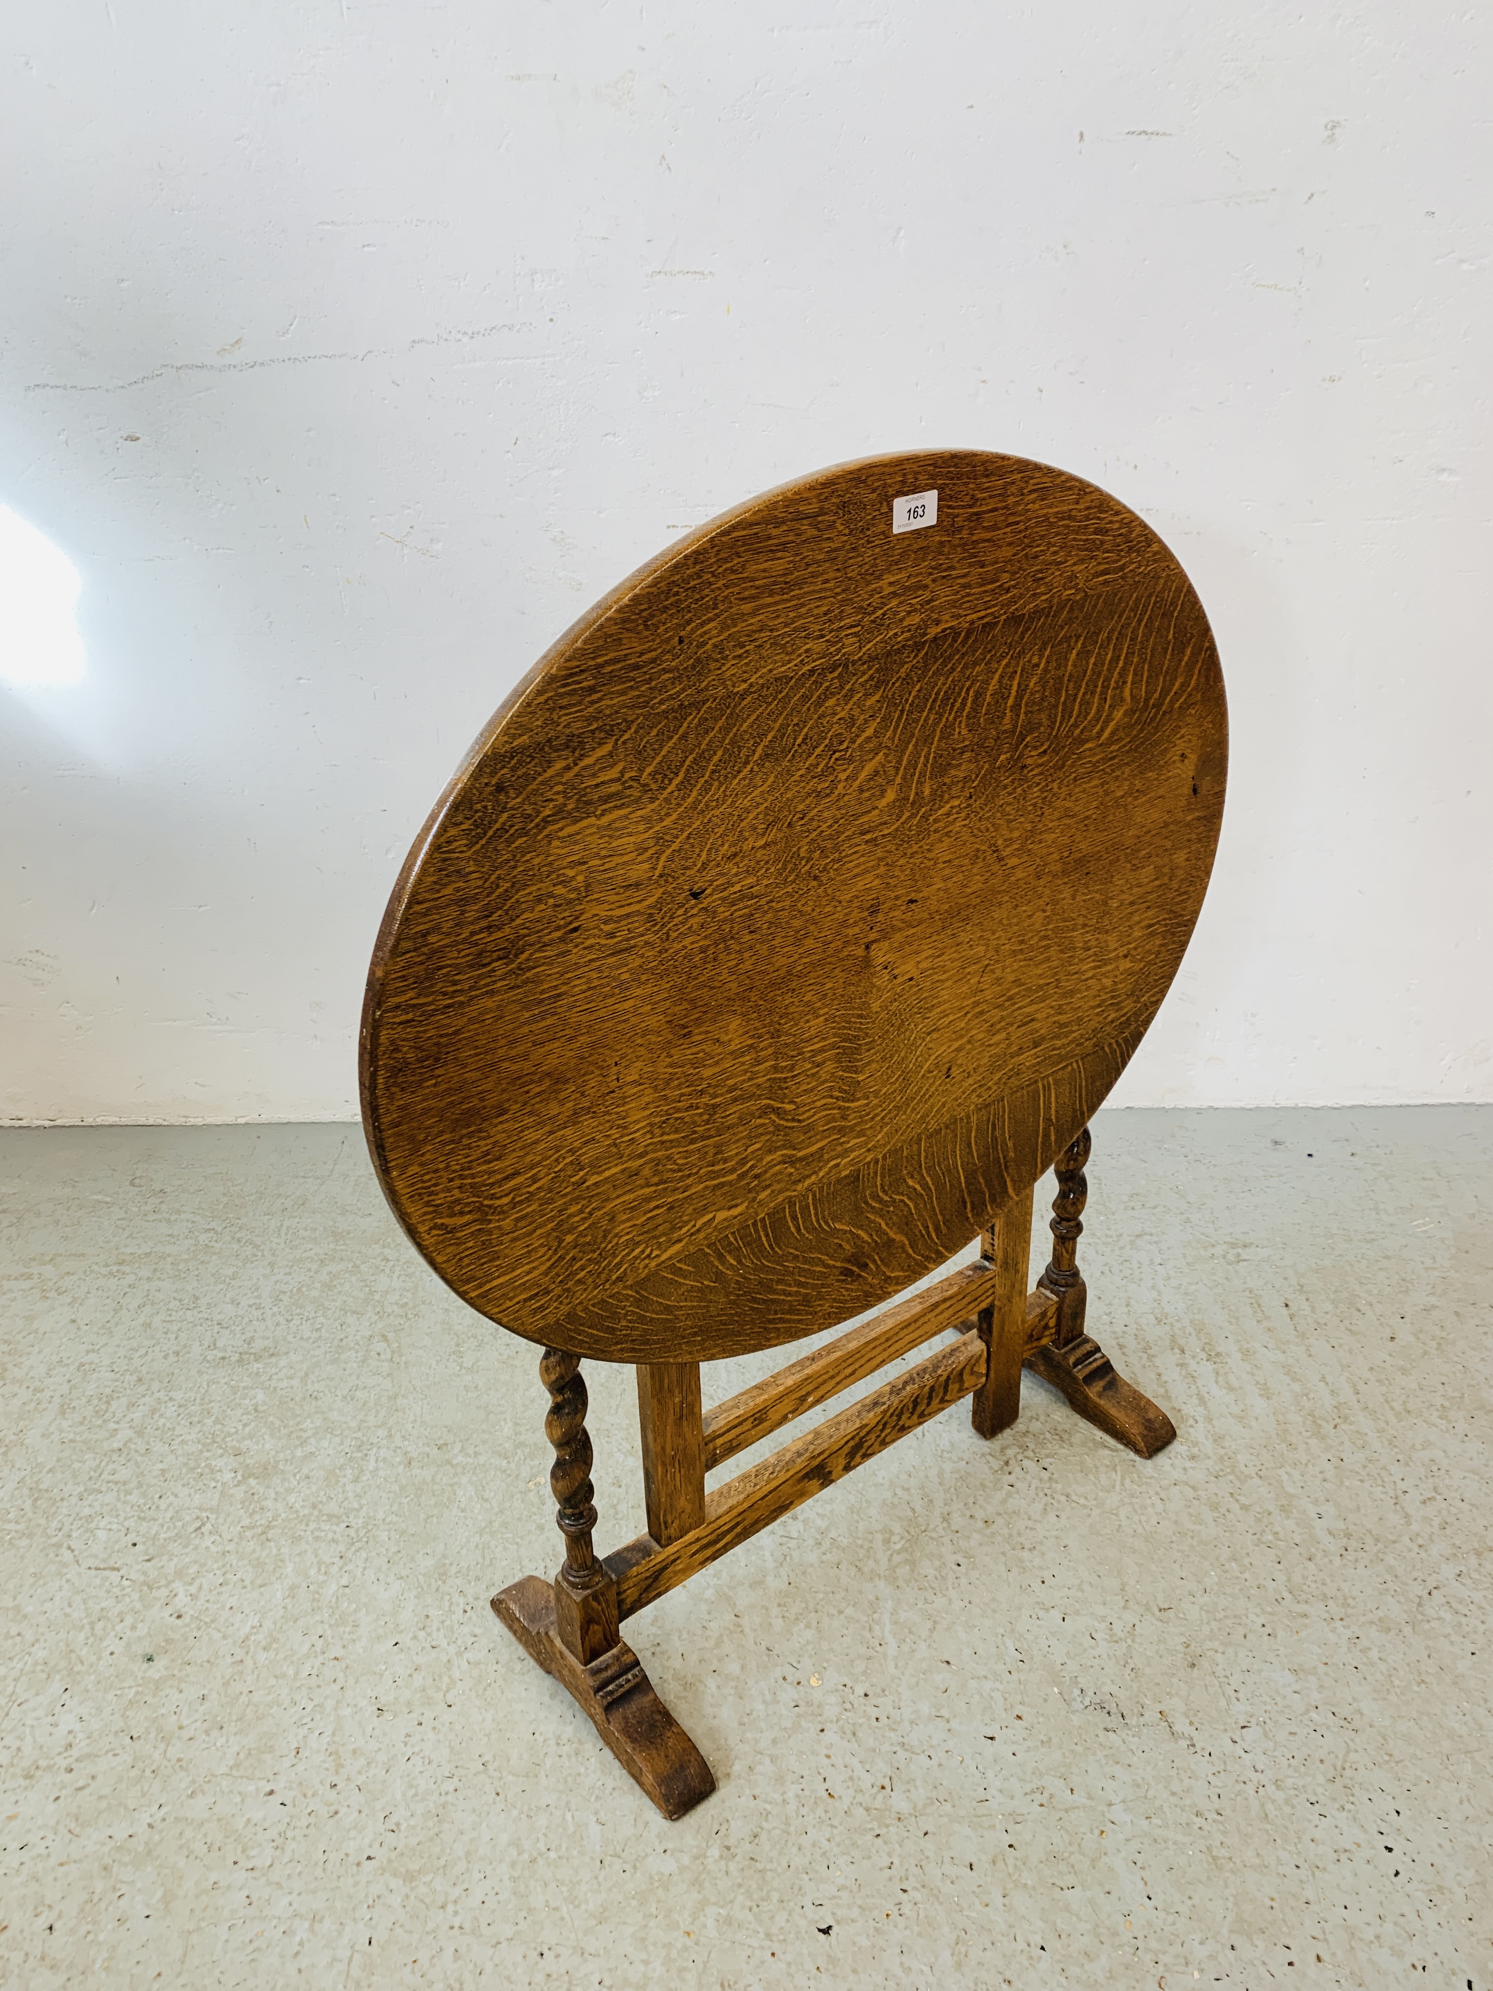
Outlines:
[[[850,1384],[864,1382],[912,1348],[932,1342],[944,1328],[963,1328],[985,1302],[993,1282],[995,1270],[985,1260],[961,1266],[926,1292],[888,1306],[876,1320],[840,1334],[774,1376],[752,1384],[750,1390],[707,1410],[705,1471],[802,1418],[806,1410],[826,1404]]]

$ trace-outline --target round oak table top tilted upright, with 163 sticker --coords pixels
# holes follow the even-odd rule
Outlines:
[[[539,659],[394,886],[360,1049],[400,1222],[605,1360],[888,1298],[1135,1051],[1226,735],[1180,565],[1061,470],[884,456],[701,528]]]

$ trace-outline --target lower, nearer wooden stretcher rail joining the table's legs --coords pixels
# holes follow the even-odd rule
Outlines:
[[[979,1334],[963,1334],[918,1368],[828,1418],[806,1438],[707,1493],[705,1525],[671,1547],[659,1549],[647,1535],[629,1541],[605,1557],[607,1571],[617,1581],[617,1617],[629,1619],[727,1549],[750,1541],[856,1465],[886,1451],[898,1438],[928,1424],[940,1410],[969,1396],[983,1378],[985,1344]]]

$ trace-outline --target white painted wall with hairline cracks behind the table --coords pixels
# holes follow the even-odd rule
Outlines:
[[[512,679],[669,534],[934,442],[1095,478],[1214,619],[1224,842],[1121,1097],[1493,1097],[1485,22],[8,8],[0,506],[86,667],[26,683],[22,546],[0,1115],[354,1113]]]

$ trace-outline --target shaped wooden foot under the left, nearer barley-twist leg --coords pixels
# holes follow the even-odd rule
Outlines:
[[[621,1639],[583,1666],[555,1633],[555,1595],[541,1577],[500,1591],[492,1609],[518,1643],[585,1708],[595,1730],[665,1818],[683,1818],[715,1790],[711,1766],[653,1692],[637,1653]]]

